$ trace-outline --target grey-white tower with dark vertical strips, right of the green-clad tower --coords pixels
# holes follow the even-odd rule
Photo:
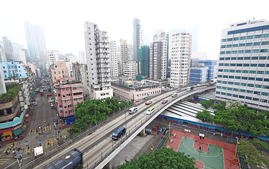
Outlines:
[[[168,42],[169,34],[159,32],[150,43],[150,79],[167,78]]]

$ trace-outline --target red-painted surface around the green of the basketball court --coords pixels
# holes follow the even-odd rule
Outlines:
[[[196,151],[195,153],[199,152],[200,146],[201,146],[201,156],[208,156],[207,152],[208,152],[208,147],[213,147],[213,146],[220,146],[223,149],[223,158],[224,158],[224,165],[225,168],[227,169],[239,169],[239,165],[237,162],[237,158],[234,159],[234,153],[235,153],[235,148],[236,146],[233,144],[228,144],[225,142],[220,142],[217,141],[215,139],[209,139],[205,136],[205,139],[200,139],[200,137],[198,135],[194,135],[194,134],[189,134],[186,132],[181,132],[178,130],[172,130],[172,134],[176,134],[175,137],[173,137],[173,142],[169,143],[169,148],[174,149],[174,151],[180,151],[179,146],[181,146],[182,144],[184,144],[184,140],[187,139],[193,139],[193,147],[192,149],[185,149],[186,151]],[[183,138],[183,140],[182,140]],[[170,138],[171,139],[171,138]],[[182,142],[181,142],[182,141]],[[211,146],[211,145],[213,146]],[[221,149],[221,148],[220,148]],[[210,151],[212,150],[212,148],[210,148]],[[200,156],[200,154],[199,154]],[[222,152],[221,152],[221,156],[222,156]],[[193,156],[194,158],[196,158],[196,167],[197,168],[208,168],[203,161],[199,161],[197,159],[196,156]],[[207,158],[208,160],[210,160],[210,156],[208,156]],[[201,159],[200,159],[201,160]],[[212,161],[213,163],[215,161]],[[218,169],[218,168],[216,168]]]

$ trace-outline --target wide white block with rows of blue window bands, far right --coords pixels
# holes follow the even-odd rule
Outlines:
[[[269,111],[269,21],[247,20],[222,30],[215,100],[239,100]]]

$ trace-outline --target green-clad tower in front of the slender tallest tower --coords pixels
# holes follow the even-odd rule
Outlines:
[[[138,49],[138,75],[136,80],[144,80],[150,74],[150,47],[147,45],[141,46]]]

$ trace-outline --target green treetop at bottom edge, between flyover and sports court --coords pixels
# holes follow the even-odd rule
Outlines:
[[[118,165],[118,169],[127,168],[186,168],[194,169],[194,158],[185,155],[184,152],[175,152],[172,148],[168,149],[162,146],[154,154],[142,155],[138,159],[125,161],[126,163]]]

